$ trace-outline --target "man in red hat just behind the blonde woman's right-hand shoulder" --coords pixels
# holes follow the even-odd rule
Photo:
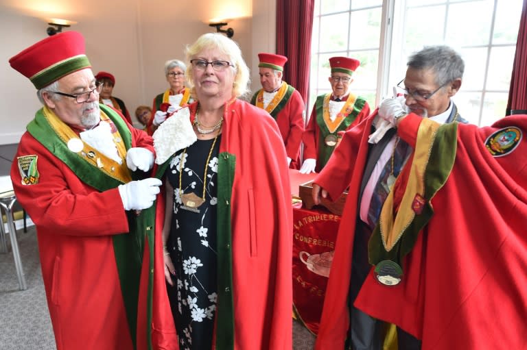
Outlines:
[[[278,123],[290,168],[300,167],[300,145],[305,124],[305,104],[295,88],[283,82],[283,55],[259,53],[261,89],[250,103],[266,110]]]

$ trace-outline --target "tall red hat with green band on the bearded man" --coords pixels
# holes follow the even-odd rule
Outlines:
[[[49,36],[13,56],[9,63],[40,89],[73,72],[91,67],[79,32]]]

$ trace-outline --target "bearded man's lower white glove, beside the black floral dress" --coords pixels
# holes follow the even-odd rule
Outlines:
[[[123,201],[124,210],[143,210],[150,208],[159,193],[163,182],[155,177],[119,185],[119,195]]]

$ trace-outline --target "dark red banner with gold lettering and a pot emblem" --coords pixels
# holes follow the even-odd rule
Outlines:
[[[324,305],[340,216],[321,208],[293,207],[293,304],[313,334]]]

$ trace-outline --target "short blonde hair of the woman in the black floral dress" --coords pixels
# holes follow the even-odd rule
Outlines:
[[[218,49],[220,53],[223,53],[229,57],[229,62],[231,62],[233,65],[230,68],[233,69],[234,73],[233,95],[236,97],[242,97],[245,95],[249,91],[249,68],[242,57],[242,50],[239,49],[237,43],[227,38],[223,34],[203,34],[198,38],[198,40],[196,40],[196,42],[194,42],[194,44],[187,46],[187,49],[185,50],[187,62],[194,60],[198,53],[211,49]],[[195,95],[196,89],[194,86],[192,64],[187,66],[187,71],[185,73],[191,93],[192,95]]]

